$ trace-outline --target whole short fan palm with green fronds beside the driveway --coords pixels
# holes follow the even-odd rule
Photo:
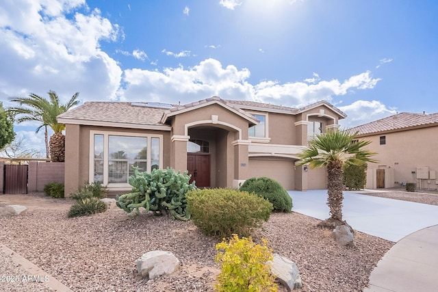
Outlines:
[[[298,165],[309,164],[310,168],[327,168],[327,204],[330,208],[331,217],[320,226],[333,228],[346,224],[342,220],[342,201],[344,200],[344,185],[342,183],[342,166],[344,163],[359,165],[363,162],[377,162],[372,159],[376,152],[363,150],[370,141],[357,140],[357,132],[328,131],[325,134],[316,135],[309,146],[298,155],[301,159]]]

